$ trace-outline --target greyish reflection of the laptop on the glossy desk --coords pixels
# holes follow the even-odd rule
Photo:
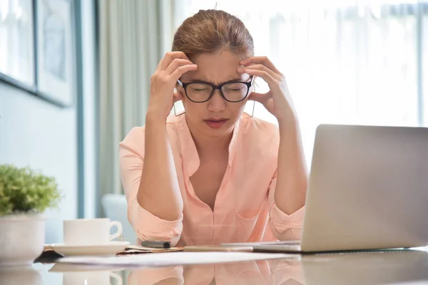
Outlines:
[[[301,263],[307,285],[413,284],[415,281],[428,281],[428,253],[420,250],[307,254],[302,256]]]

